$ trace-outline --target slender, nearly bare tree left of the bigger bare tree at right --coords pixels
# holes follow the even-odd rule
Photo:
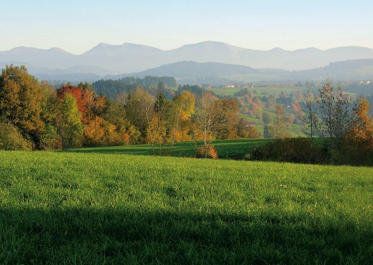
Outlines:
[[[304,102],[301,104],[301,109],[297,110],[297,114],[303,122],[303,124],[305,125],[304,133],[308,136],[310,140],[310,155],[311,161],[313,161],[314,136],[316,135],[318,124],[318,106],[316,103],[316,99],[311,94],[310,85],[308,85],[307,87],[307,96]]]

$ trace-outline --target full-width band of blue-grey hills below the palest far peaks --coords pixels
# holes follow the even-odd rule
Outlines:
[[[21,62],[12,62],[17,65]],[[0,68],[5,67],[0,62]],[[113,74],[102,67],[76,65],[67,69],[38,68],[25,64],[30,73],[40,80],[48,81],[96,81],[98,79],[119,79],[125,76],[172,76],[180,83],[219,85],[227,82],[297,82],[305,80],[323,80],[327,76],[339,81],[373,79],[373,59],[348,60],[333,62],[328,66],[303,70],[287,71],[282,69],[254,69],[249,66],[195,61],[181,61],[164,64],[141,72]]]

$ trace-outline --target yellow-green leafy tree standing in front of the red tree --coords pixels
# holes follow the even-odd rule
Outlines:
[[[57,134],[62,143],[62,151],[76,145],[81,137],[83,125],[82,113],[78,109],[77,101],[70,93],[65,93],[58,115]]]

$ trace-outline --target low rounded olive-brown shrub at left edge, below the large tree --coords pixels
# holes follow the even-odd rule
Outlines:
[[[16,126],[9,122],[0,122],[0,149],[32,150],[31,141],[23,138]]]

